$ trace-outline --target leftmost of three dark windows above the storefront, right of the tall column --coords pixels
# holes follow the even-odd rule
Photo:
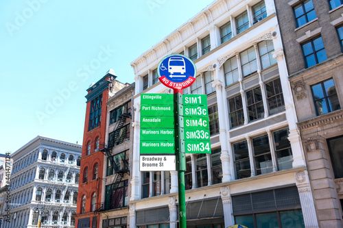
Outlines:
[[[236,179],[251,176],[248,142],[246,140],[233,144],[233,153],[235,154]]]

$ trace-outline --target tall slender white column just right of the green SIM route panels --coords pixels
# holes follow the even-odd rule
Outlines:
[[[226,116],[224,116],[225,110],[223,107],[223,95],[222,95],[222,81],[219,79],[212,82],[212,86],[215,87],[217,92],[217,105],[218,105],[218,120],[219,120],[219,138],[220,144],[222,147],[222,153],[220,155],[220,160],[222,161],[222,171],[223,171],[223,182],[228,182],[232,180],[232,174],[230,173],[230,156],[228,155],[228,146],[227,146],[227,136],[226,136]]]

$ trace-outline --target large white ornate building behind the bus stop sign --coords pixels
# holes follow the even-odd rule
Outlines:
[[[140,94],[169,93],[158,62],[193,60],[211,149],[188,154],[187,227],[318,227],[272,0],[218,0],[145,51],[135,74],[130,227],[176,227],[177,173],[139,171]]]

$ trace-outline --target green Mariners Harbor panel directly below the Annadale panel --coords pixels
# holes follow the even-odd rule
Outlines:
[[[141,141],[173,141],[174,129],[141,129]]]

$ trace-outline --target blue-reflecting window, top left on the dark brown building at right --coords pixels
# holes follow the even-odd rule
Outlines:
[[[296,27],[305,25],[307,22],[317,18],[314,11],[312,0],[303,1],[294,6],[294,16],[296,18]]]

